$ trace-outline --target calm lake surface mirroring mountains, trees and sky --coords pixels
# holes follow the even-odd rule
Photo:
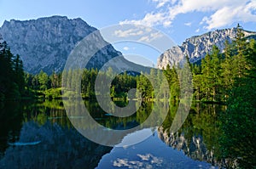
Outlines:
[[[120,120],[98,104],[85,101],[95,120],[108,128],[131,128],[144,121],[152,103]],[[178,132],[169,131],[177,106],[155,128],[131,132],[125,139],[150,133],[139,144],[108,147],[84,138],[73,127],[61,100],[0,105],[0,168],[218,168],[218,113],[223,107],[194,104]],[[82,118],[82,117],[81,117]]]

